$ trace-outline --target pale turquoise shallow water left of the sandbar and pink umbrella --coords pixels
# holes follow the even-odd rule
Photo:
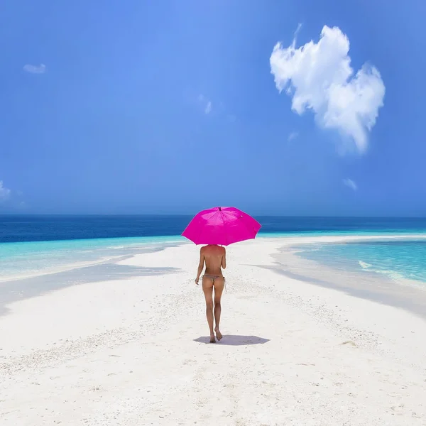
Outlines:
[[[0,243],[0,280],[53,273],[186,241],[180,236]]]

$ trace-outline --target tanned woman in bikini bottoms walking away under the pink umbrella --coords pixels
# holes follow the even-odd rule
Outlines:
[[[204,275],[202,275],[202,290],[206,298],[206,316],[210,329],[210,343],[215,343],[216,339],[214,332],[216,332],[217,340],[222,339],[222,334],[219,331],[220,321],[220,299],[224,290],[225,278],[222,275],[222,268],[226,268],[226,250],[224,247],[217,245],[204,246],[200,249],[200,263],[198,265],[197,278],[195,283],[198,285],[200,275],[206,265]],[[214,298],[213,298],[214,288]],[[213,315],[214,310],[214,315]],[[213,317],[216,327],[213,330]]]

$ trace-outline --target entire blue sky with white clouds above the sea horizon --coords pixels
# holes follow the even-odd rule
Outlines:
[[[426,216],[424,1],[1,9],[0,212]]]

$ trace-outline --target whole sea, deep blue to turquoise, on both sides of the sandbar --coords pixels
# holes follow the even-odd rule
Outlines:
[[[0,280],[55,272],[186,241],[190,216],[0,216]],[[300,256],[426,282],[426,219],[256,217],[259,236],[416,235],[305,246]]]

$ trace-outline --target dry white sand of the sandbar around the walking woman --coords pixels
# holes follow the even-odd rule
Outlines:
[[[425,320],[278,273],[283,244],[228,248],[217,344],[192,244],[8,305],[0,425],[426,425]]]

